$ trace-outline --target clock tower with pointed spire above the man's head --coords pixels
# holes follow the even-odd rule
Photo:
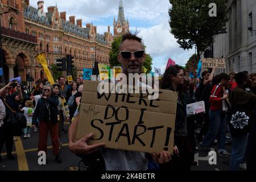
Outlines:
[[[125,20],[125,13],[123,11],[123,2],[120,0],[119,2],[119,11],[118,11],[118,18],[115,21],[114,18],[114,37],[121,36],[129,32],[129,20]]]

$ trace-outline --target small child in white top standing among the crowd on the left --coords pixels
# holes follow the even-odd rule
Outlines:
[[[33,102],[31,100],[27,100],[25,102],[25,107],[23,107],[20,111],[24,112],[24,116],[27,119],[27,127],[24,129],[23,139],[30,138],[30,128],[32,126],[32,116],[34,113]]]

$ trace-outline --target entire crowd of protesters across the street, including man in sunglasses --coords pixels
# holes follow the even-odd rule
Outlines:
[[[141,73],[145,59],[142,39],[125,35],[119,49],[118,59],[123,72],[126,75]],[[134,50],[137,50],[136,55],[131,53]],[[214,75],[215,72],[214,68],[205,69],[198,78],[197,74],[191,76],[179,65],[172,65],[164,72],[159,88],[178,92],[172,156],[168,152],[145,155],[143,152],[112,150],[102,147],[102,143],[89,146],[86,141],[92,134],[73,141],[83,82],[81,78],[77,78],[76,82],[67,82],[63,76],[53,85],[37,81],[33,92],[14,82],[1,85],[0,153],[3,144],[6,144],[7,158],[15,159],[11,154],[14,135],[5,122],[11,112],[19,111],[27,119],[23,139],[30,138],[31,127],[34,127],[34,132],[39,129],[38,151],[47,152],[49,131],[57,163],[62,162],[61,134],[67,132],[63,128],[64,121],[73,121],[69,127],[70,150],[76,154],[91,154],[100,148],[103,158],[109,159],[105,160],[105,169],[108,170],[146,170],[149,169],[149,162],[154,161],[159,164],[155,165],[158,170],[189,171],[191,166],[197,165],[194,159],[196,150],[209,152],[213,150],[214,143],[217,143],[218,155],[230,157],[230,170],[238,170],[241,164],[246,164],[247,170],[256,170],[256,73],[249,75],[243,71]],[[199,101],[204,101],[205,113],[187,117],[187,105]],[[231,153],[226,150],[229,135]]]

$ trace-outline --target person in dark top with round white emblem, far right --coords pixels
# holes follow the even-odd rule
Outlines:
[[[251,79],[248,72],[237,73],[234,77],[237,88],[230,95],[231,109],[229,113],[229,126],[232,134],[232,154],[229,168],[235,171],[245,156],[249,126],[252,121],[252,111],[256,107],[256,95],[246,91]]]

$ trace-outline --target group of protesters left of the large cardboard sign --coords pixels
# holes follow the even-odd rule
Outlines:
[[[29,139],[32,129],[35,133],[39,131],[38,151],[45,151],[47,154],[49,132],[55,162],[61,163],[62,159],[59,154],[63,145],[61,134],[67,133],[64,130],[64,121],[71,122],[69,109],[73,115],[80,103],[76,101],[76,94],[80,93],[78,96],[81,98],[81,90],[78,92],[77,85],[82,84],[80,78],[77,78],[77,82],[67,82],[63,76],[59,77],[53,85],[47,80],[40,79],[31,89],[27,85],[19,84],[18,80],[9,82],[9,84],[0,84],[0,154],[5,144],[7,159],[15,159],[11,152],[16,138],[11,127],[5,123],[12,112],[19,112],[27,121],[22,138]],[[1,155],[0,162],[2,162]]]

